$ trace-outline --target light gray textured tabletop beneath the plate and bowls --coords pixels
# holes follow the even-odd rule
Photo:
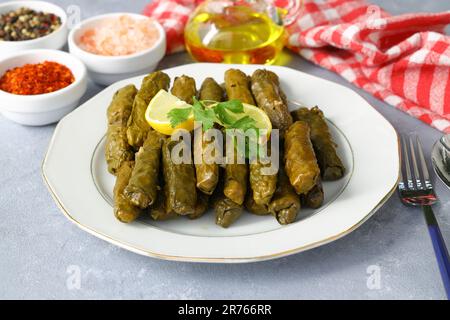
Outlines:
[[[53,1],[66,7],[70,0]],[[146,1],[76,1],[83,18],[138,12]],[[447,1],[373,1],[393,13],[449,10]],[[160,67],[189,63],[185,54]],[[440,133],[298,57],[290,66],[351,87],[401,134],[418,134],[429,154]],[[90,84],[84,100],[101,90]],[[53,203],[40,167],[54,126],[31,128],[0,116],[0,298],[68,299],[443,299],[436,260],[419,210],[397,195],[361,228],[326,246],[290,257],[242,265],[166,262],[136,255],[70,223]],[[370,134],[370,133],[368,133]],[[450,192],[436,181],[435,212],[450,247]],[[368,268],[380,269],[369,289]],[[71,268],[80,288],[70,285]],[[369,286],[370,287],[370,286]]]

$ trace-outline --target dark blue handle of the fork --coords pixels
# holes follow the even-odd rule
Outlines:
[[[439,229],[439,225],[431,206],[423,206],[423,212],[428,225],[428,232],[430,233],[431,241],[433,243],[434,253],[438,261],[439,271],[441,272],[442,281],[444,282],[447,299],[450,299],[450,257],[448,250],[445,246],[441,229]]]

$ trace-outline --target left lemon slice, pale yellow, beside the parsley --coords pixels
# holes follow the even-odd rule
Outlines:
[[[175,108],[190,108],[190,104],[178,99],[173,94],[165,90],[160,90],[148,104],[145,111],[145,120],[148,124],[158,132],[171,135],[176,129],[194,129],[194,116],[191,114],[189,118],[172,128],[167,114]]]

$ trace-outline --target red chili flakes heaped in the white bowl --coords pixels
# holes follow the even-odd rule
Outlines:
[[[74,81],[69,68],[45,61],[6,71],[0,78],[0,90],[19,95],[43,94],[65,88]]]

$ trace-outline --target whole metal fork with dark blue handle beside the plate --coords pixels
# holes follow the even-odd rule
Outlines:
[[[441,272],[442,281],[444,282],[444,288],[447,293],[447,298],[450,299],[450,257],[436,217],[431,209],[431,206],[436,203],[438,199],[430,180],[427,164],[423,155],[422,144],[417,136],[416,144],[418,160],[416,158],[413,139],[409,137],[407,143],[406,137],[402,137],[403,169],[400,169],[398,191],[400,199],[405,205],[420,206],[423,209],[425,220],[428,225],[428,232],[431,236],[434,253]],[[410,157],[412,161],[410,161]],[[420,171],[422,174],[419,172],[418,163],[420,163]],[[403,178],[402,170],[406,174],[406,180]]]

